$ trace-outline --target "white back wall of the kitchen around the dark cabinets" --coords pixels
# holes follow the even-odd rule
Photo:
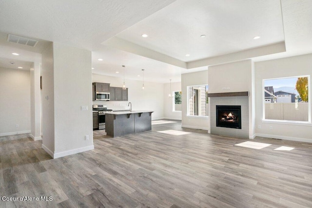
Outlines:
[[[122,87],[123,77],[93,74],[92,82],[110,83],[112,87]],[[128,103],[131,102],[132,110],[154,111],[152,120],[164,118],[164,85],[162,83],[144,81],[144,90],[142,90],[142,81],[125,79],[125,84],[128,88],[128,101],[94,101],[93,104],[105,104],[108,109],[122,110],[127,109]]]

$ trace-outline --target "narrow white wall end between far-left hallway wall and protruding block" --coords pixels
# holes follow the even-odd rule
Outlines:
[[[41,100],[40,100],[40,63],[33,62],[30,69],[30,95],[31,95],[31,132],[34,140],[41,139]]]

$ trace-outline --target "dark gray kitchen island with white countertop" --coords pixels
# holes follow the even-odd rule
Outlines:
[[[121,136],[152,130],[153,111],[125,111],[105,114],[106,134]]]

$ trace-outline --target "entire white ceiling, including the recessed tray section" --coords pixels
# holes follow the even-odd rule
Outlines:
[[[8,43],[8,34],[39,43]],[[145,69],[146,81],[175,82],[211,63],[312,53],[312,1],[0,1],[0,58],[16,49],[25,55],[17,59],[31,61],[26,57],[37,56],[49,41],[92,51],[95,74],[121,77],[125,65],[126,78],[141,79]],[[6,59],[0,67],[7,67]]]

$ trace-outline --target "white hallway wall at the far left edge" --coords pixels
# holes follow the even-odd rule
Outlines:
[[[0,136],[29,132],[30,72],[0,68]]]

